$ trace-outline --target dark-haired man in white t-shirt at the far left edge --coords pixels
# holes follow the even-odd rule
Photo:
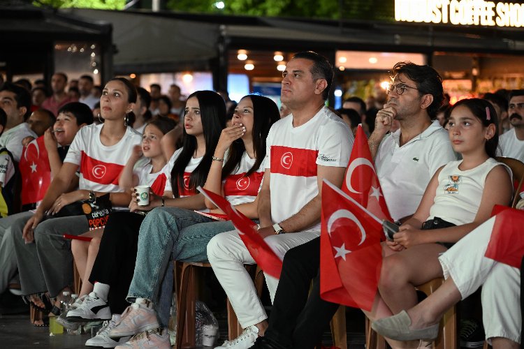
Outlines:
[[[7,124],[0,136],[0,148],[8,149],[15,161],[20,161],[22,140],[38,137],[24,122],[31,111],[31,94],[24,87],[6,82],[0,89],[0,107],[7,114]]]

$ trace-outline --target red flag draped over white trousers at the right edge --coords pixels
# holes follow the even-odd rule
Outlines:
[[[520,268],[524,255],[524,211],[507,208],[495,216],[486,257]],[[490,229],[484,223],[476,229]]]

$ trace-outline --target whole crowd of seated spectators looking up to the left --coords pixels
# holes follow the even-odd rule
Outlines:
[[[163,94],[159,84],[148,91],[123,77],[103,86],[64,73],[49,83],[3,82],[0,311],[13,306],[6,294],[15,292],[40,311],[35,326],[52,315],[67,329],[105,321],[87,346],[170,348],[172,262],[209,260],[244,329],[217,348],[313,348],[338,307],[319,295],[322,181],[342,186],[359,125],[400,225],[394,242],[384,243],[377,304],[366,315],[378,320],[411,308],[412,285],[443,276],[439,256],[460,255],[467,245],[453,244],[474,236],[494,205],[509,204],[511,170],[495,156],[524,162],[524,90],[450,105],[429,66],[400,62],[391,78],[387,90],[368,101],[347,98],[339,110],[326,106],[333,68],[314,52],[289,61],[280,108],[258,95],[237,103],[224,91],[184,97],[176,84]],[[453,176],[460,179],[451,183]],[[150,188],[147,205],[139,185]],[[265,275],[270,317],[244,267],[254,259],[198,186],[256,221],[284,260],[280,281]],[[414,237],[435,228],[431,239]],[[82,289],[66,313],[60,302],[72,291],[73,258]],[[505,302],[518,302],[508,289]],[[489,297],[482,305],[504,323],[507,307]],[[496,348],[520,343],[520,323],[484,322]],[[414,339],[430,338],[388,341],[402,348]]]

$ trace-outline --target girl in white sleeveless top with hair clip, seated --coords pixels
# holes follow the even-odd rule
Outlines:
[[[393,242],[384,244],[379,296],[368,314],[372,320],[414,306],[414,286],[443,276],[438,256],[447,244],[486,221],[494,205],[511,200],[511,171],[493,159],[498,144],[493,106],[477,98],[460,101],[453,106],[449,126],[453,149],[463,160],[435,172],[415,214],[400,225]],[[437,230],[429,230],[433,225]]]

